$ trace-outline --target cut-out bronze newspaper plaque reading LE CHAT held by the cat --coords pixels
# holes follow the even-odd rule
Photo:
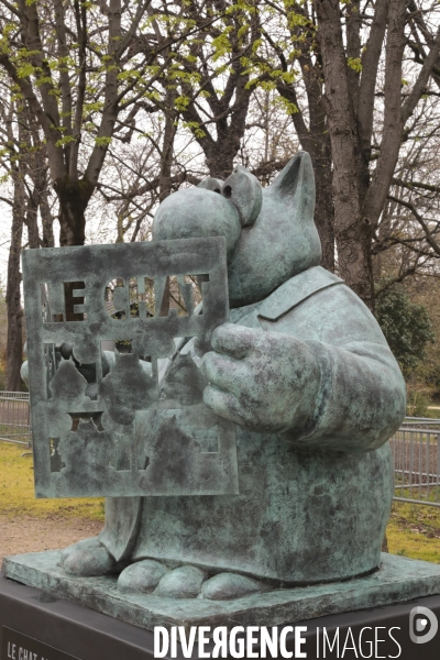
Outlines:
[[[229,318],[223,238],[26,250],[23,284],[37,497],[238,492],[199,370]]]

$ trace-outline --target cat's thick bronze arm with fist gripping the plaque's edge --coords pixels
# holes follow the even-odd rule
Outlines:
[[[337,288],[279,322],[262,321],[264,330],[218,328],[204,359],[207,405],[307,447],[381,447],[405,415],[405,383],[372,315],[346,287]]]

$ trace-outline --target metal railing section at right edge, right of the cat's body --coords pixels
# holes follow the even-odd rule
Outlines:
[[[394,499],[440,506],[440,419],[407,417],[389,442]]]

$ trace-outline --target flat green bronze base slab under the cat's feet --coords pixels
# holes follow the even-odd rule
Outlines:
[[[66,575],[57,565],[59,556],[59,551],[48,551],[8,557],[3,574],[148,630],[154,626],[280,626],[440,594],[439,564],[386,553],[381,569],[364,578],[222,602],[122,594],[114,576]]]

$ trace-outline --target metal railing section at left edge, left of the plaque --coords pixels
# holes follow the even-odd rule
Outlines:
[[[32,446],[28,392],[0,392],[0,440]]]

